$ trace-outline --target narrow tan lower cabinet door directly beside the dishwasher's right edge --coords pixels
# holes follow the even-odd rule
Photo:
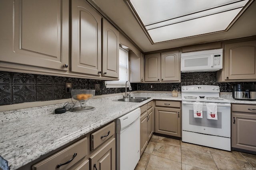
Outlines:
[[[148,145],[148,113],[140,115],[140,156]]]

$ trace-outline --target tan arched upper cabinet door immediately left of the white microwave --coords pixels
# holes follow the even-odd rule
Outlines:
[[[161,81],[180,80],[179,51],[161,53]]]

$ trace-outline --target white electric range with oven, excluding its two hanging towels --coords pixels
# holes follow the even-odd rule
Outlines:
[[[220,98],[219,86],[181,87],[182,141],[207,147],[231,150],[231,104]],[[202,118],[194,117],[194,103],[202,103]],[[207,119],[207,103],[217,106],[218,119]]]

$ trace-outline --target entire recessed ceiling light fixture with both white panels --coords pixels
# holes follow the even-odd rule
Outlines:
[[[249,0],[130,0],[153,43],[224,31]]]

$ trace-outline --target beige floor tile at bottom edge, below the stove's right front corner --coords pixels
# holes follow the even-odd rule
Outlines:
[[[219,170],[246,170],[252,168],[249,162],[232,159],[226,156],[212,155]]]

